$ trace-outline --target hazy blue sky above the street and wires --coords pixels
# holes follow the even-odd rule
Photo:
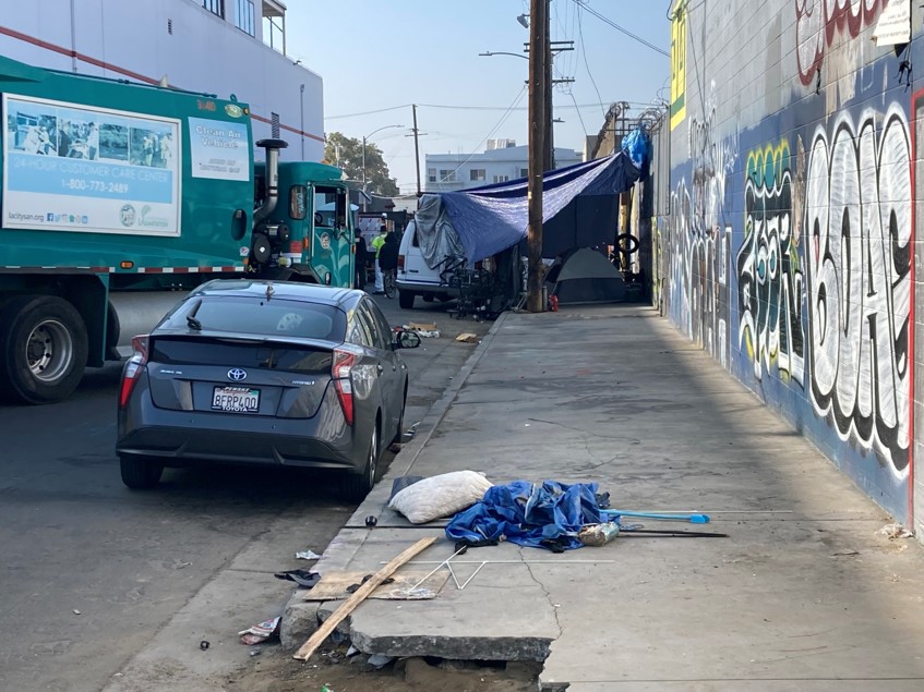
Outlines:
[[[559,53],[553,112],[556,147],[581,151],[613,101],[635,114],[669,94],[669,0],[551,0]],[[529,32],[517,16],[529,0],[289,0],[287,50],[324,80],[325,133],[374,143],[403,194],[417,190],[413,116],[417,104],[420,174],[425,154],[480,153],[487,141],[528,143]],[[612,24],[595,16],[602,15]],[[650,44],[658,50],[646,46]],[[389,125],[401,125],[393,128]],[[381,130],[380,130],[381,129]]]

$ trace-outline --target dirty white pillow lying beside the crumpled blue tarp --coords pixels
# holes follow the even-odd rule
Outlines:
[[[407,517],[412,524],[423,524],[471,507],[492,485],[476,471],[453,471],[423,478],[399,490],[388,501],[388,507]]]

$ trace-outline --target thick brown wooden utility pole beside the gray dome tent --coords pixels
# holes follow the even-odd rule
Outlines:
[[[547,84],[545,61],[548,57],[547,16],[549,0],[529,2],[529,228],[526,278],[527,308],[532,313],[544,312],[542,301],[542,158],[545,151],[545,134],[549,121],[545,112]]]

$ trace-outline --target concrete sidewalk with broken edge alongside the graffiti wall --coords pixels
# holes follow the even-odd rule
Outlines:
[[[425,535],[443,539],[419,560],[449,557],[445,522],[411,526],[385,503],[393,477],[459,469],[596,482],[614,508],[712,517],[647,529],[731,537],[473,548],[459,580],[488,564],[465,590],[362,604],[361,651],[544,660],[543,689],[571,692],[924,689],[919,544],[878,533],[881,509],[652,308],[504,315],[319,571],[374,572]],[[337,605],[296,593],[284,644]]]

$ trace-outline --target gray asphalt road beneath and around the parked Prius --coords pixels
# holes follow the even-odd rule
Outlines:
[[[379,302],[393,325],[442,332],[403,352],[412,425],[473,349],[454,337],[490,325],[449,319],[452,304]],[[298,470],[168,470],[156,490],[128,490],[112,451],[120,371],[89,372],[62,403],[0,406],[2,690],[101,690],[171,623],[190,643],[227,644],[223,665],[235,665],[245,655],[237,631],[288,597],[272,573],[309,567],[295,551],[321,553],[355,509],[332,478]],[[211,603],[218,583],[228,586]]]

